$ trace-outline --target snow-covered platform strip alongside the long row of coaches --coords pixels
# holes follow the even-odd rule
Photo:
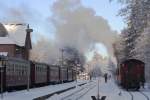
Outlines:
[[[78,84],[85,83],[87,81],[78,80]],[[3,99],[0,97],[0,100],[32,100],[36,97],[44,96],[59,90],[67,89],[72,86],[76,86],[76,82],[49,85],[40,88],[30,89],[30,91],[22,90],[16,92],[5,92]]]

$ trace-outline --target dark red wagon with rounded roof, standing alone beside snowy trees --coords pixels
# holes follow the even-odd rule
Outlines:
[[[144,62],[137,59],[123,61],[117,69],[118,83],[127,90],[139,90],[145,82],[144,65]]]

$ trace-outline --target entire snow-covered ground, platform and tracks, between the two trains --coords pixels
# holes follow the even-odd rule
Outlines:
[[[83,82],[85,81],[78,81],[78,84],[81,84]],[[92,100],[91,96],[97,96],[98,81],[92,80],[86,82],[86,85],[77,86],[77,88],[71,89],[61,94],[55,94],[48,98],[48,100]],[[29,92],[23,90],[11,93],[4,93],[3,100],[32,100],[33,98],[44,96],[72,86],[76,86],[76,82],[35,88],[31,89]],[[132,100],[132,98],[133,100],[148,100],[138,91],[127,92],[123,89],[120,89],[115,84],[113,79],[105,83],[104,79],[100,78],[99,91],[100,97],[106,96],[106,100]],[[150,90],[148,88],[141,89],[140,91],[150,98]]]

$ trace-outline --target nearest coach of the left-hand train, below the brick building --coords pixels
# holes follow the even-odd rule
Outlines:
[[[3,84],[4,90],[23,89],[27,87],[30,78],[29,61],[11,57],[3,57],[0,63],[0,84]]]

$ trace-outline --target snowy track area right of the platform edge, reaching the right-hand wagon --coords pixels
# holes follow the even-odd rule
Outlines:
[[[109,80],[108,83],[104,82],[104,79],[100,79],[99,95],[106,96],[106,100],[147,100],[140,92],[127,92],[120,89],[113,80]],[[48,100],[92,100],[91,96],[97,96],[98,85],[97,80],[90,82],[82,87],[67,91],[60,95],[54,95]],[[143,93],[150,97],[150,90],[141,90]],[[132,94],[132,95],[131,95]]]

